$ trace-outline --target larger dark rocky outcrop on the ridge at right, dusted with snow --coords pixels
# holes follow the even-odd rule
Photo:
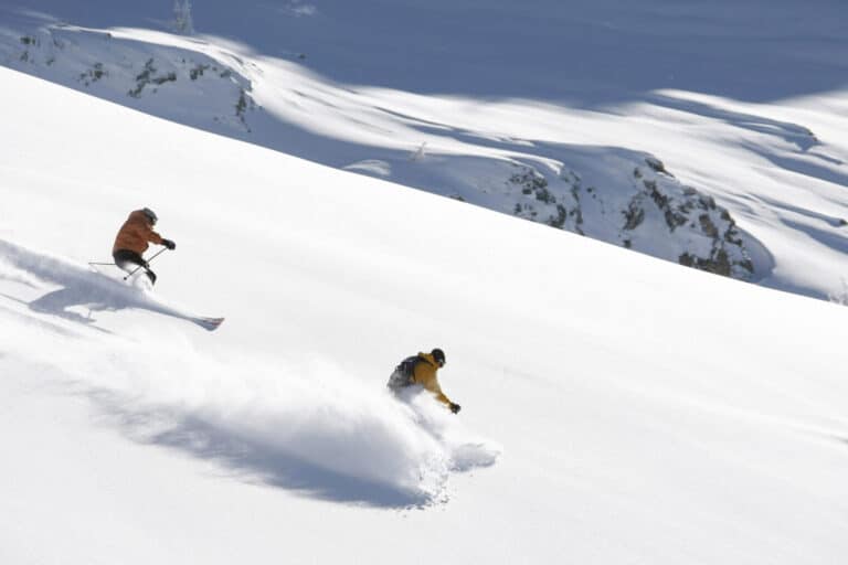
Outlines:
[[[687,267],[749,280],[755,266],[730,212],[712,196],[680,183],[665,164],[643,156],[610,185],[587,184],[564,167],[549,179],[515,163],[506,184],[512,213]]]

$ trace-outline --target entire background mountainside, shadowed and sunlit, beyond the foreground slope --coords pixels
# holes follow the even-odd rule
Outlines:
[[[205,34],[180,38],[138,29],[167,28],[159,8],[38,0],[6,8],[0,53],[289,154],[764,286],[845,292],[846,8],[425,4],[211,2],[195,10]]]

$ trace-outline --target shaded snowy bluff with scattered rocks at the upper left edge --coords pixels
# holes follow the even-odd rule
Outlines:
[[[179,47],[153,47],[108,32],[49,26],[0,38],[0,64],[139,109],[173,108],[221,132],[250,132],[257,105],[239,64]],[[203,96],[198,96],[198,93]],[[147,100],[156,96],[158,100]],[[128,100],[131,98],[131,100]],[[210,125],[211,122],[211,125]]]

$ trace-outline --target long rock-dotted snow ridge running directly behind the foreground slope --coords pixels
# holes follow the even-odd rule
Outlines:
[[[10,66],[160,117],[734,278],[772,268],[754,264],[760,242],[725,207],[644,151],[464,127],[215,42],[67,25],[21,33],[0,38]]]

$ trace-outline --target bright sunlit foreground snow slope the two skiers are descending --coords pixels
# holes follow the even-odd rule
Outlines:
[[[3,563],[848,551],[844,308],[0,82]],[[86,267],[141,205],[153,295]]]

